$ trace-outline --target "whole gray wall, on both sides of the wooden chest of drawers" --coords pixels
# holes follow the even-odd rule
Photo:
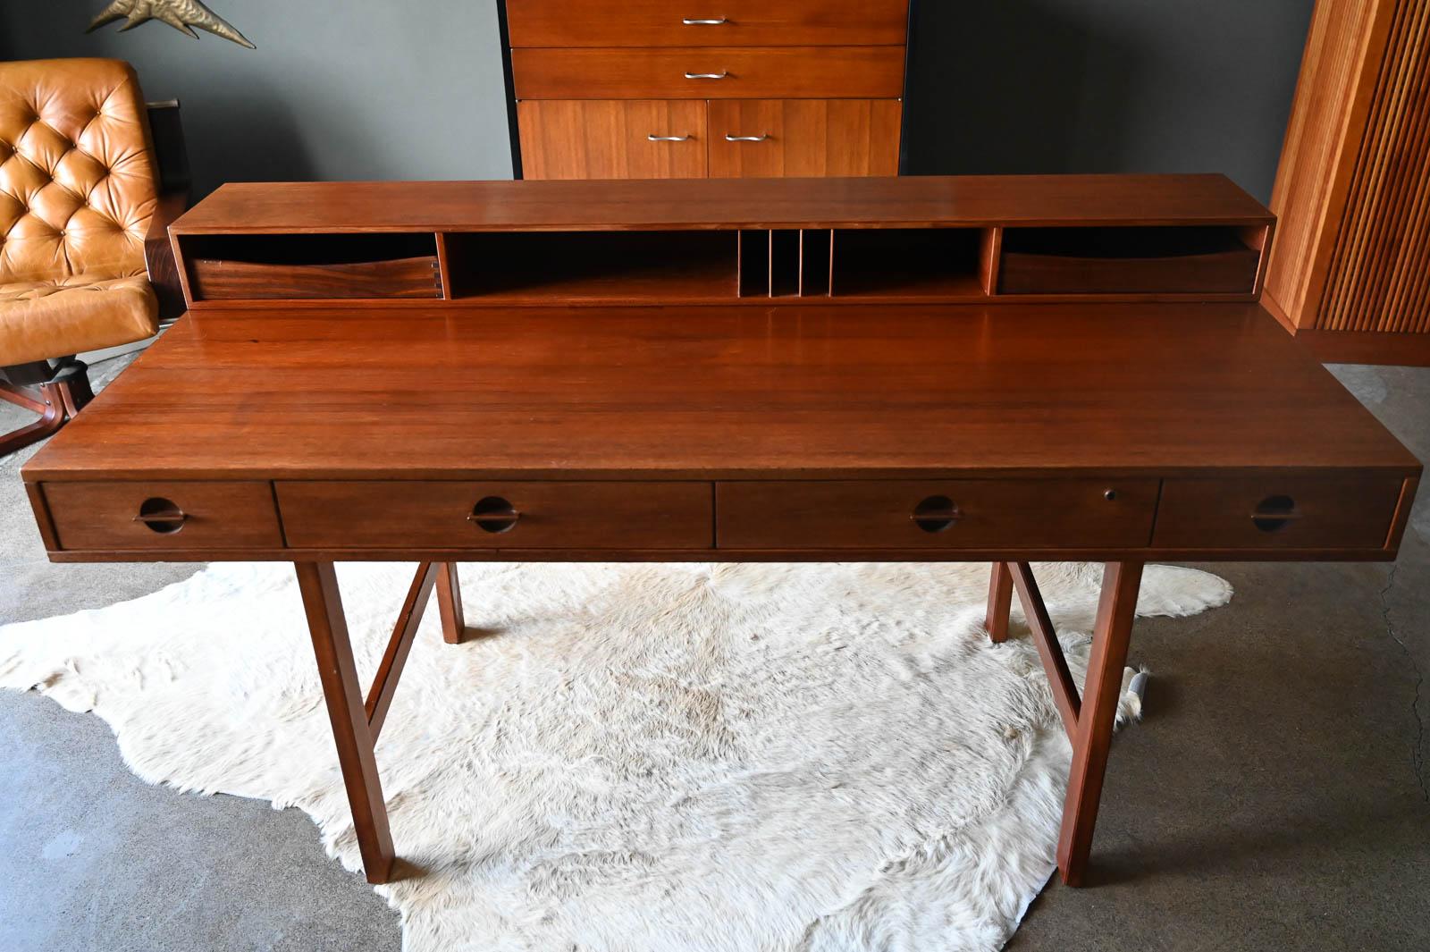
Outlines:
[[[160,23],[86,36],[104,0],[0,0],[0,54],[133,61],[150,99],[183,100],[200,194],[511,174],[495,0],[209,3],[259,49]],[[1226,172],[1266,200],[1311,6],[921,0],[909,172]]]

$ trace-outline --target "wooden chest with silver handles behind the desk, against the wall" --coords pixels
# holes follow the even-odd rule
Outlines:
[[[526,179],[891,176],[909,0],[506,0]]]

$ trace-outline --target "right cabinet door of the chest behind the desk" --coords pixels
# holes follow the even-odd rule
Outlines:
[[[897,99],[758,99],[709,103],[712,179],[895,176]]]

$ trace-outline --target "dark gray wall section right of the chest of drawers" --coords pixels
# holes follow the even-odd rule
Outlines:
[[[921,0],[914,173],[1224,172],[1263,202],[1314,0]]]

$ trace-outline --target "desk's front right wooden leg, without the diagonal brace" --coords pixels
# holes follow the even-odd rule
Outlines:
[[[1123,668],[1131,642],[1137,590],[1141,587],[1141,562],[1110,562],[1103,570],[1103,595],[1093,629],[1093,655],[1088,659],[1083,705],[1072,739],[1072,769],[1062,806],[1062,832],[1058,838],[1058,869],[1062,882],[1081,886],[1093,851],[1093,826],[1103,796],[1107,753],[1113,743],[1117,702],[1123,693]]]

